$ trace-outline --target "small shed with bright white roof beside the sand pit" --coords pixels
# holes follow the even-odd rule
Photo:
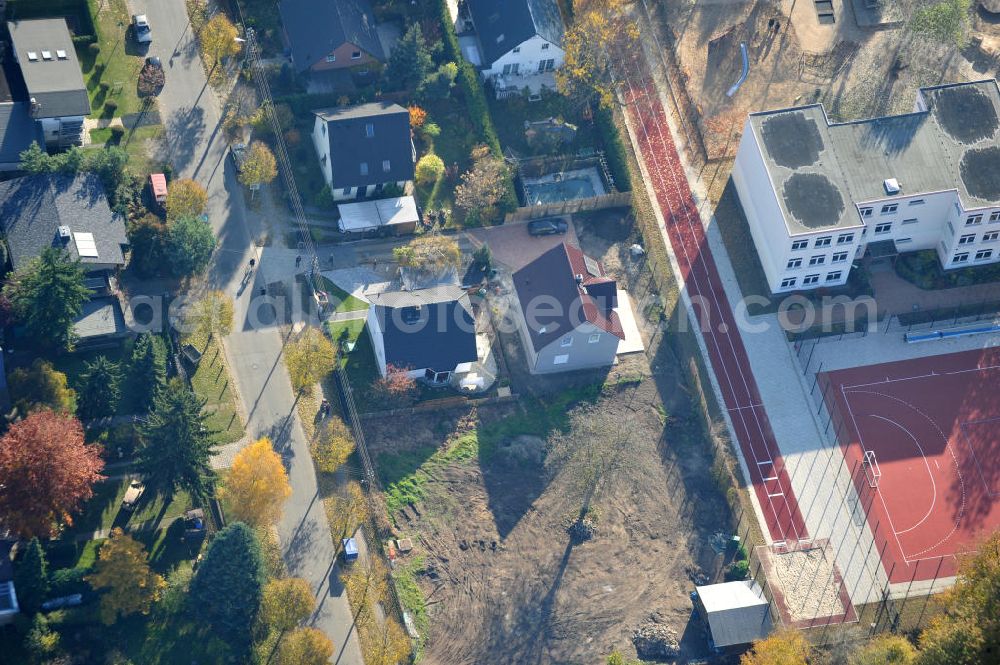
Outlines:
[[[753,580],[695,587],[695,606],[717,649],[750,644],[771,632],[771,608]]]

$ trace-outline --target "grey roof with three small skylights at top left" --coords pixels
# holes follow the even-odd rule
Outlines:
[[[66,20],[8,21],[7,29],[28,96],[38,104],[35,116],[90,115],[90,99]],[[42,57],[43,51],[50,53],[48,60]],[[66,57],[59,58],[58,51],[64,52]],[[36,54],[36,60],[28,59],[29,52]]]

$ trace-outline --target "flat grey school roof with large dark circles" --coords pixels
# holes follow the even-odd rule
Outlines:
[[[898,196],[957,190],[967,209],[1000,203],[996,81],[920,96],[927,111],[847,123],[830,123],[820,104],[751,114],[791,235],[860,226],[853,204],[891,198],[888,178],[902,186]],[[821,177],[796,182],[795,174]]]

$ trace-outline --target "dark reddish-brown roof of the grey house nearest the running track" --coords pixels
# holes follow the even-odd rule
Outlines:
[[[614,311],[618,305],[615,281],[605,275],[600,263],[576,247],[556,245],[515,272],[514,289],[536,352],[585,322],[625,339]],[[552,307],[555,303],[557,308]],[[538,310],[531,310],[533,306]]]

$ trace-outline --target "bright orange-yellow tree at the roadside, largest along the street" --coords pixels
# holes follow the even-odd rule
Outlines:
[[[232,522],[264,527],[278,521],[292,488],[270,439],[258,439],[236,455],[220,494]]]

